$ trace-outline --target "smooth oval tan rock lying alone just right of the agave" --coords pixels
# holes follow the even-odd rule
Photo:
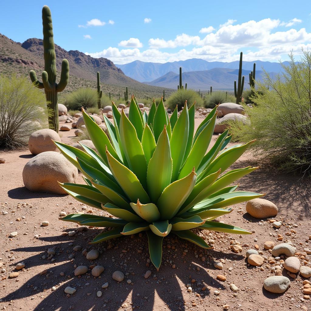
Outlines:
[[[276,205],[268,200],[256,198],[246,203],[246,211],[255,218],[268,218],[276,216]]]

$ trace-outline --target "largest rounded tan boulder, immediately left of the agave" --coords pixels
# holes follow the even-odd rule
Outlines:
[[[30,191],[66,194],[60,183],[77,183],[78,169],[62,154],[45,151],[30,159],[23,169],[23,182]]]

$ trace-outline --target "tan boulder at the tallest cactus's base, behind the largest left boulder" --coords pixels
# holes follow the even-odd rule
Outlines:
[[[35,131],[30,135],[28,140],[29,151],[33,155],[38,155],[45,151],[58,151],[53,141],[61,141],[57,132],[49,128]]]

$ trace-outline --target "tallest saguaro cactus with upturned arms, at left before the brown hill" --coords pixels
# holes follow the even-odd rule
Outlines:
[[[42,82],[39,82],[34,70],[30,70],[30,79],[39,89],[44,89],[49,112],[49,128],[58,132],[58,100],[57,93],[65,89],[69,79],[69,63],[63,59],[59,83],[56,83],[56,54],[53,40],[51,11],[48,6],[42,8],[44,71]]]

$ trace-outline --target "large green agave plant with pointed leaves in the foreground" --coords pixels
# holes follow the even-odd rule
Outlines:
[[[60,183],[78,201],[107,211],[112,217],[71,214],[65,221],[95,227],[113,227],[95,237],[91,244],[122,235],[146,231],[150,259],[159,269],[162,241],[170,233],[202,248],[210,246],[191,229],[250,234],[239,227],[212,221],[232,211],[232,204],[262,194],[235,191],[230,186],[256,167],[234,169],[220,175],[252,143],[225,149],[231,136],[221,134],[207,152],[213,135],[217,107],[194,133],[195,103],[185,104],[168,116],[160,101],[149,114],[141,112],[132,96],[129,114],[113,103],[113,121],[103,115],[109,137],[82,109],[84,123],[97,153],[55,142],[63,155],[84,175],[86,184]]]

